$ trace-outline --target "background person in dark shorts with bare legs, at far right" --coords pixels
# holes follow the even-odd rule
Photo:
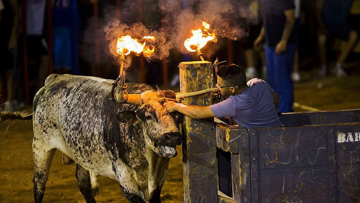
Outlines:
[[[352,0],[317,0],[317,18],[320,27],[318,35],[319,55],[321,68],[319,76],[324,77],[327,73],[326,66],[326,42],[327,38],[340,38],[343,40],[341,53],[336,61],[332,73],[337,77],[346,75],[343,63],[349,55],[358,39],[358,33],[348,26],[348,12]]]

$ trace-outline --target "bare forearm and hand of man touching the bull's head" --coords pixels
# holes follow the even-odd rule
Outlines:
[[[201,107],[201,106],[193,106],[193,105],[185,105],[176,102],[166,102],[164,104],[168,112],[178,111],[190,118],[202,119],[202,118],[213,118],[215,117],[214,113],[212,113],[210,106]]]

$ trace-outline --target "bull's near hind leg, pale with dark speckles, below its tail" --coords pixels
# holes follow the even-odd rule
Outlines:
[[[42,202],[45,193],[45,184],[49,177],[50,164],[56,149],[45,146],[43,142],[38,141],[39,140],[34,137],[33,156],[35,174],[32,182],[34,183],[35,202]]]

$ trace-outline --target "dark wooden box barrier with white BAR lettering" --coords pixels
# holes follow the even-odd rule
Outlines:
[[[283,128],[215,122],[218,202],[360,202],[360,109],[280,119]]]

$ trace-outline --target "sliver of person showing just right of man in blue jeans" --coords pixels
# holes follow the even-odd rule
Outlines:
[[[295,6],[295,26],[294,26],[294,38],[296,39],[296,42],[298,42],[299,35],[300,35],[300,14],[301,14],[301,0],[294,0],[294,6]],[[299,49],[297,46],[295,57],[294,57],[294,66],[293,71],[291,73],[291,79],[294,82],[299,82],[301,77],[299,73]]]

